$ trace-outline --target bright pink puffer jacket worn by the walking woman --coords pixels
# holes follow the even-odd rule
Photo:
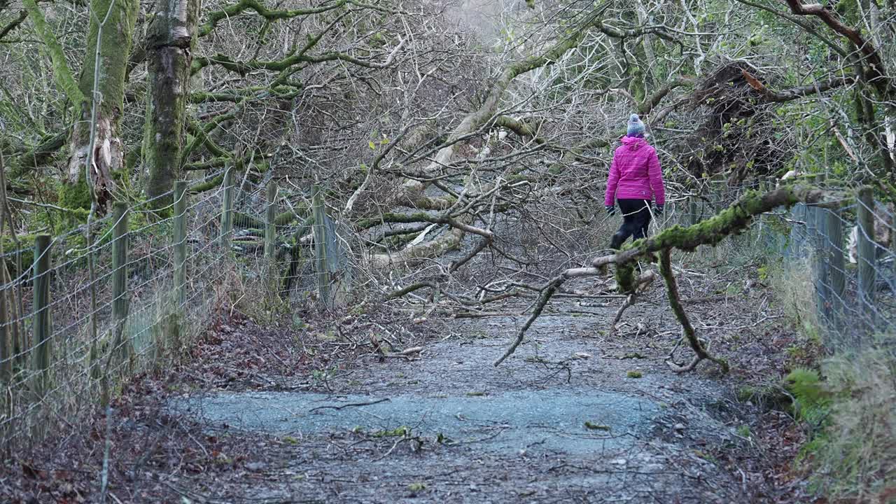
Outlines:
[[[623,136],[622,145],[613,153],[604,203],[610,206],[616,199],[652,199],[666,204],[657,150],[643,138]]]

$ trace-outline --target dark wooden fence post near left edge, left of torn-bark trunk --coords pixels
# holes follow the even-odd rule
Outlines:
[[[34,239],[34,370],[41,376],[38,393],[43,395],[50,367],[50,235],[39,234]]]

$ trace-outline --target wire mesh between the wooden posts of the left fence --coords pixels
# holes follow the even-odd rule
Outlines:
[[[194,184],[223,174],[210,174]],[[34,306],[33,286],[39,271],[36,259],[41,256],[35,257],[34,248],[29,247],[6,251],[0,257],[10,270],[22,258],[21,271],[14,271],[7,277],[12,280],[0,285],[0,295],[14,304],[7,306],[7,317],[0,320],[0,343],[5,343],[0,347],[0,386],[4,389],[0,395],[0,448],[13,449],[17,444],[32,443],[76,425],[78,415],[99,404],[100,379],[123,380],[137,372],[158,369],[162,360],[176,360],[178,352],[208,325],[215,313],[233,306],[233,290],[262,290],[263,285],[256,286],[254,282],[235,285],[239,278],[262,279],[275,272],[271,278],[277,285],[271,303],[277,302],[279,295],[301,292],[301,297],[308,298],[315,291],[318,278],[314,268],[308,267],[308,259],[313,256],[309,243],[299,239],[290,243],[291,235],[280,237],[273,248],[276,256],[263,256],[266,184],[243,176],[234,181],[229,212],[232,227],[222,236],[227,194],[224,183],[195,194],[185,191],[186,233],[180,244],[173,239],[177,221],[173,191],[157,198],[166,201],[158,208],[153,204],[159,201],[128,208],[122,218],[127,219],[128,230],[124,241],[127,256],[119,270],[125,271],[126,279],[126,308],[121,319],[116,319],[112,294],[113,281],[119,274],[112,260],[118,239],[114,232],[119,222],[111,216],[92,222],[90,249],[85,246],[84,226],[51,239],[44,252],[50,259],[46,273],[50,296],[43,305],[51,319],[46,338],[50,349],[47,369],[34,365],[35,355],[45,344],[37,341],[34,329],[40,310]],[[307,195],[290,196],[307,201]],[[296,216],[296,220],[296,225],[301,223],[300,217]],[[288,229],[289,226],[277,226],[278,231]],[[185,248],[186,269],[184,295],[180,299],[173,295],[177,291],[178,245]],[[302,247],[309,250],[297,250]],[[85,273],[90,255],[96,265],[93,283]],[[293,263],[298,266],[290,270]],[[291,282],[288,290],[282,289],[285,282]],[[90,309],[91,290],[96,291],[98,300],[95,312]],[[16,298],[17,292],[22,292],[21,299]],[[93,316],[98,320],[96,340],[90,330]],[[172,332],[179,333],[177,338],[172,338]],[[119,334],[121,337],[116,337]],[[173,348],[174,345],[180,348]]]

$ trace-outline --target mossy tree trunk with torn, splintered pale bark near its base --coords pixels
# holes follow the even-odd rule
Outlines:
[[[82,104],[81,120],[75,124],[69,143],[71,157],[65,187],[60,194],[60,201],[70,208],[90,208],[90,191],[85,178],[88,160],[99,209],[104,209],[112,199],[112,173],[124,166],[119,123],[124,109],[125,73],[138,9],[139,3],[135,0],[92,0],[90,3],[87,53],[79,82],[87,100]],[[94,104],[94,100],[99,101]],[[96,117],[91,117],[94,110]],[[93,152],[90,152],[93,122]]]

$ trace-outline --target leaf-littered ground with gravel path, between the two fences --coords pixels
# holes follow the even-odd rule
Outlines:
[[[790,466],[803,432],[749,393],[801,347],[742,281],[682,285],[728,375],[668,369],[679,328],[658,285],[612,338],[620,300],[552,303],[498,367],[524,317],[232,315],[183,366],[134,379],[108,431],[98,411],[7,458],[0,500],[98,501],[108,439],[106,502],[807,502]],[[422,352],[383,358],[371,335]]]

